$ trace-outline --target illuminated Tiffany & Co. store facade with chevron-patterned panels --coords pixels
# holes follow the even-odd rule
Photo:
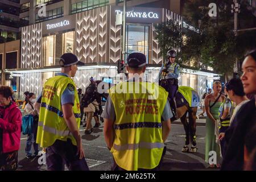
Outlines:
[[[84,91],[91,76],[119,82],[116,66],[121,57],[122,28],[115,24],[115,17],[121,12],[122,6],[107,5],[22,27],[19,69],[5,72],[19,77],[18,92],[40,93],[43,83],[60,72],[60,56],[72,52],[85,63],[73,78],[78,88]],[[155,81],[163,57],[153,24],[172,19],[183,26],[182,17],[168,9],[141,6],[127,7],[126,17],[126,52],[144,53],[146,78]],[[181,72],[180,85],[191,86],[199,94],[206,92],[208,78],[217,76],[192,68],[183,68]]]

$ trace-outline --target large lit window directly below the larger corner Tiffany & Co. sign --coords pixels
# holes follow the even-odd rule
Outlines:
[[[148,42],[150,26],[139,24],[126,25],[126,52],[142,52],[146,55],[148,63]]]

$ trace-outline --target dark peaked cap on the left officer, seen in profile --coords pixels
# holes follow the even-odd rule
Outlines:
[[[64,53],[61,57],[60,57],[60,65],[61,67],[69,67],[71,65],[80,65],[83,66],[85,65],[84,63],[82,63],[81,61],[79,61],[77,59],[77,56],[74,55],[73,53]]]

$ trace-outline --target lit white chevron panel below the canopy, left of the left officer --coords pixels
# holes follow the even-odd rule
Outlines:
[[[43,88],[42,82],[43,73],[26,73],[20,77],[20,92],[24,93],[26,91],[40,94]]]

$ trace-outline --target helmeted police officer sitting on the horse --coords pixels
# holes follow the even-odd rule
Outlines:
[[[175,58],[177,56],[176,51],[170,50],[167,52],[167,61],[163,63],[159,72],[159,85],[163,86],[164,89],[169,93],[168,99],[171,104],[172,112],[174,117],[172,121],[177,119],[176,111],[176,101],[175,96],[177,89],[179,88],[179,75],[180,75],[180,65],[175,63]]]

